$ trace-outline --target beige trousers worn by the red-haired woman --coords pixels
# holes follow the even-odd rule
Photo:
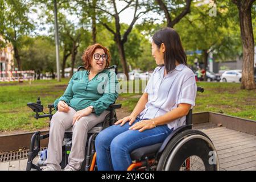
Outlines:
[[[47,166],[51,166],[56,170],[60,170],[60,162],[62,159],[62,142],[65,130],[72,127],[73,115],[76,110],[69,107],[68,113],[56,111],[51,119],[51,127],[49,130],[49,143],[47,151]],[[98,123],[104,121],[104,118],[110,111],[104,111],[100,116],[91,113],[82,117],[75,123],[72,129],[72,147],[68,157],[68,165],[79,170],[85,158],[85,144],[87,133]]]

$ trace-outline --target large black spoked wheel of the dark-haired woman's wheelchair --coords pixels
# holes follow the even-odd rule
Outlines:
[[[156,170],[217,171],[218,155],[207,135],[198,130],[185,130],[167,144]]]

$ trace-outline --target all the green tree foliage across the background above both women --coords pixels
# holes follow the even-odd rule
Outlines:
[[[99,7],[93,9],[93,2]],[[125,1],[123,1],[125,2]],[[134,1],[135,2],[135,1]],[[134,8],[135,3],[131,3],[131,9]],[[171,18],[174,19],[184,9],[185,1],[164,1],[168,10],[170,11]],[[124,3],[127,4],[127,3]],[[240,38],[239,17],[237,7],[229,0],[218,1],[217,16],[209,16],[208,3],[201,4],[200,1],[193,1],[191,4],[191,13],[187,14],[175,25],[175,29],[179,32],[183,46],[186,51],[207,50],[213,53],[213,57],[217,61],[224,61],[234,59],[236,56],[242,55],[242,46]],[[35,8],[36,7],[36,8]],[[109,30],[102,25],[102,23],[108,23],[108,26],[115,30],[114,17],[107,14],[104,10],[108,10],[109,13],[114,14],[113,1],[57,1],[58,7],[58,19],[59,19],[59,35],[60,35],[60,60],[62,60],[64,50],[72,49],[72,39],[81,34],[80,47],[76,55],[75,67],[81,65],[81,56],[84,49],[92,44],[92,15],[96,13],[97,23],[97,42],[108,47],[112,55],[112,63],[118,65],[118,71],[122,71],[122,65],[120,63],[117,44],[114,42],[114,36]],[[154,1],[139,1],[139,9],[152,8],[148,16],[143,16],[141,21],[134,25],[125,46],[125,56],[127,64],[132,69],[140,68],[143,71],[152,70],[155,68],[155,60],[151,56],[150,37],[155,31],[166,26],[166,22],[156,23],[155,16],[151,17],[152,13],[162,16],[161,20],[164,20],[163,11],[160,10],[159,5]],[[42,11],[39,14],[38,10]],[[102,10],[103,9],[103,10]],[[119,9],[120,10],[120,9]],[[32,30],[34,30],[35,22],[31,22],[28,19],[28,13],[33,12],[39,15],[40,19],[46,19],[42,25],[44,28],[48,28],[49,43],[42,43],[43,40],[38,38],[36,40]],[[24,63],[24,69],[34,68],[43,72],[49,70],[55,70],[55,56],[54,56],[54,16],[53,16],[53,3],[47,0],[34,0],[34,1],[21,1],[21,0],[0,0],[0,34],[4,36],[6,40],[11,42],[14,40],[14,29],[16,30],[16,40],[12,43],[18,45],[21,49],[21,58]],[[154,15],[154,14],[153,14]],[[254,3],[252,8],[253,18],[253,31],[256,32],[256,5]],[[70,18],[76,17],[75,19]],[[127,16],[133,16],[127,15]],[[121,16],[120,16],[121,17]],[[159,22],[159,21],[158,21]],[[41,26],[42,26],[41,25]],[[125,33],[129,24],[120,23],[121,36]],[[14,28],[15,27],[15,28]],[[31,38],[30,38],[31,37]],[[40,39],[40,41],[39,41]],[[256,41],[256,36],[254,36]],[[31,46],[31,41],[34,42]],[[36,40],[36,41],[35,41]],[[44,40],[46,41],[46,40]],[[48,41],[48,40],[47,40]],[[0,42],[0,46],[4,46],[5,43]],[[42,46],[42,47],[40,47]],[[31,50],[29,50],[31,48]],[[47,61],[49,67],[41,64],[34,64],[36,60],[42,60],[43,53],[38,52],[39,49],[42,52],[48,52]],[[44,49],[44,50],[43,50]],[[29,52],[29,53],[28,53]],[[51,56],[50,56],[51,55]],[[39,59],[39,57],[41,57]],[[188,63],[193,64],[196,57],[199,57],[200,61],[203,60],[201,55],[188,55]],[[35,59],[34,61],[32,61]],[[51,61],[50,61],[51,60]],[[39,62],[40,63],[40,62]],[[67,67],[70,66],[70,59],[68,59]]]

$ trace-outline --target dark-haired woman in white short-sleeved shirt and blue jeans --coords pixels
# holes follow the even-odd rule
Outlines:
[[[185,115],[195,105],[196,80],[187,67],[179,34],[163,28],[152,37],[151,48],[158,67],[133,112],[96,137],[99,170],[127,170],[131,151],[162,143],[185,125]]]

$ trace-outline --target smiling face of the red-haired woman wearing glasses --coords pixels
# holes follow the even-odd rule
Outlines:
[[[90,65],[92,65],[92,70],[94,72],[101,72],[106,67],[107,55],[104,49],[97,48],[94,53]]]

